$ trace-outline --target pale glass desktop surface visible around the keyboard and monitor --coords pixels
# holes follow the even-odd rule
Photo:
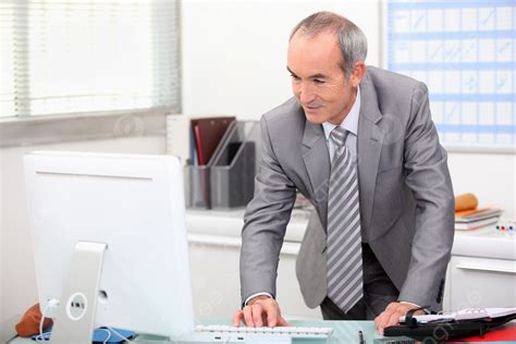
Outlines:
[[[230,324],[230,321],[204,321],[204,324]],[[330,343],[358,343],[358,331],[364,332],[364,339],[367,344],[373,344],[374,339],[383,339],[383,336],[376,333],[374,323],[372,321],[291,321],[292,325],[295,327],[321,327],[332,328],[333,335],[330,339]],[[162,337],[139,335],[133,342],[136,343],[169,343],[169,341]],[[377,341],[379,342],[379,341]],[[374,342],[374,344],[377,343]],[[9,342],[9,344],[34,344],[35,342],[29,339],[16,337]],[[187,342],[186,342],[187,343]]]

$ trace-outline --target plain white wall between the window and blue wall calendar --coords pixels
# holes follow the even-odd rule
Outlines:
[[[259,119],[291,97],[286,45],[292,28],[329,10],[359,25],[379,53],[378,1],[195,1],[182,3],[183,112]]]

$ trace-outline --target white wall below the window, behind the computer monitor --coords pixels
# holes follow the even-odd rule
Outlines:
[[[24,153],[56,149],[159,155],[164,153],[164,137],[133,137],[0,149],[0,334],[2,323],[16,320],[37,303],[23,179]]]

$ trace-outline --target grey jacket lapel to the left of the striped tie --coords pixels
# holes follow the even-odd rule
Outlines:
[[[312,187],[312,200],[319,209],[321,223],[327,226],[330,156],[322,125],[306,122],[303,135],[303,160]]]

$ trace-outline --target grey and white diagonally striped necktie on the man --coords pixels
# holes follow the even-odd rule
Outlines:
[[[336,126],[328,192],[328,297],[347,312],[363,297],[360,208],[353,157],[344,143],[348,132]]]

